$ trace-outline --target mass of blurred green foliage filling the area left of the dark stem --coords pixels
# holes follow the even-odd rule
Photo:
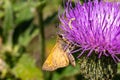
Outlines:
[[[0,69],[0,80],[43,80],[36,60],[27,53],[30,41],[39,35],[33,20],[36,8],[43,3],[0,0],[0,64],[5,64],[4,69]]]

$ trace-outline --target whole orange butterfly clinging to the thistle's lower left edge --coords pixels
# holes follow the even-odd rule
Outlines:
[[[68,46],[66,46],[66,44],[68,44]],[[42,69],[46,71],[54,71],[58,68],[68,66],[69,63],[75,66],[75,59],[73,55],[70,54],[70,51],[73,48],[74,46],[69,45],[68,41],[64,40],[59,36],[55,46],[51,50],[47,59],[45,60]]]

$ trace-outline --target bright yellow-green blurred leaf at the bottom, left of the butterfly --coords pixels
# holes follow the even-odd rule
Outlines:
[[[35,66],[35,60],[27,54],[24,54],[16,66],[12,69],[13,74],[22,80],[43,80],[43,74]]]

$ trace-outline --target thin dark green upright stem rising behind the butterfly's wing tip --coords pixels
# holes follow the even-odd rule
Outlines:
[[[40,0],[40,2],[42,2],[43,0]],[[40,53],[41,53],[41,66],[43,65],[43,62],[45,60],[45,33],[44,33],[44,21],[43,21],[43,8],[44,8],[44,4],[40,5],[37,8],[37,14],[38,14],[38,19],[39,19],[39,32],[40,32]],[[50,74],[43,71],[43,76],[44,76],[44,80],[49,80],[49,76]]]

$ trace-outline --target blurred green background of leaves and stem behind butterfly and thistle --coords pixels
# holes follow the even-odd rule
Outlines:
[[[81,80],[78,64],[41,69],[55,44],[64,1],[0,0],[0,80]]]

